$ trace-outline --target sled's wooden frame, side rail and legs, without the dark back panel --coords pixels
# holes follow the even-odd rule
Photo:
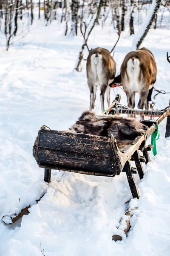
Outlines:
[[[108,108],[108,112],[113,109],[113,107],[120,101],[120,96],[117,95],[116,99],[113,101],[111,107]],[[107,113],[105,111],[105,113]],[[120,152],[119,148],[117,147],[116,140],[113,137],[113,134],[109,134],[110,142],[111,142],[111,148],[113,151],[113,159],[114,159],[114,166],[113,169],[115,170],[113,174],[108,174],[105,172],[97,173],[97,172],[88,172],[88,171],[81,171],[79,169],[74,169],[73,168],[65,168],[65,167],[59,167],[57,165],[44,165],[38,162],[38,140],[40,140],[40,134],[44,132],[43,130],[45,129],[45,126],[41,127],[41,130],[39,131],[38,137],[37,137],[37,143],[35,143],[34,148],[33,148],[33,155],[37,160],[37,163],[39,164],[40,168],[45,169],[44,173],[44,181],[45,182],[50,182],[51,181],[51,170],[52,169],[57,169],[57,170],[62,170],[62,171],[67,171],[67,172],[76,172],[76,173],[81,173],[81,174],[86,174],[86,175],[98,175],[98,176],[109,176],[109,177],[114,177],[115,175],[120,175],[121,172],[126,172],[127,175],[127,180],[130,186],[130,191],[133,195],[133,198],[139,198],[139,191],[136,186],[134,174],[138,173],[140,179],[144,177],[144,169],[142,166],[142,162],[147,164],[150,161],[149,153],[148,151],[151,151],[151,148],[153,147],[152,145],[149,145],[147,148],[143,150],[143,157],[140,155],[139,150],[142,146],[142,144],[145,143],[148,137],[155,131],[156,125],[159,125],[159,123],[165,118],[168,117],[167,119],[167,131],[170,130],[170,108],[168,108],[164,113],[161,112],[161,116],[156,120],[146,120],[143,121],[144,124],[150,126],[148,130],[142,134],[141,136],[136,137],[136,139],[131,143],[127,148],[125,148],[125,151]],[[169,130],[168,130],[169,129]],[[64,132],[62,132],[64,133]],[[168,134],[169,135],[169,134]],[[70,134],[72,136],[72,134]],[[84,136],[88,137],[88,134],[84,134]],[[101,137],[102,138],[102,137]],[[136,168],[132,168],[130,164],[130,160],[133,160],[135,162]]]

